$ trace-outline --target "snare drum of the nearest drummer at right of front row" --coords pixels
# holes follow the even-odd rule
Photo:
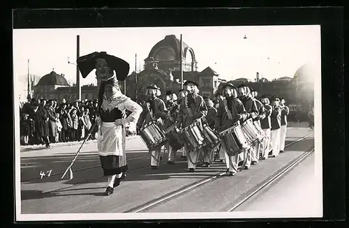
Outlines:
[[[242,153],[243,149],[247,149],[249,146],[239,125],[223,130],[219,136],[221,137],[221,145],[229,156]]]

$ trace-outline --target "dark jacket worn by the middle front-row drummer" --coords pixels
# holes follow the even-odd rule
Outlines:
[[[191,109],[191,114],[193,114],[192,116],[188,112],[187,107]],[[177,122],[181,124],[182,128],[186,128],[186,126],[194,123],[196,119],[200,119],[206,115],[207,107],[202,96],[198,95],[197,93],[188,94],[188,96],[181,100]]]

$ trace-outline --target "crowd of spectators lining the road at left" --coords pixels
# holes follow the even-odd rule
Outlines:
[[[66,102],[31,99],[20,107],[22,145],[78,142],[84,140],[96,121],[98,100]],[[94,128],[89,139],[96,139]]]

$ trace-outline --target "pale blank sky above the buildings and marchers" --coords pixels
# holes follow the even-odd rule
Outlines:
[[[144,65],[151,48],[166,35],[174,34],[195,52],[198,70],[207,66],[223,79],[246,77],[256,72],[274,79],[293,77],[307,61],[320,58],[320,26],[197,26],[101,29],[15,29],[13,31],[14,74],[23,82],[28,73],[40,77],[50,73],[66,75],[75,83],[76,36],[80,35],[80,56],[107,52],[130,63],[130,73]],[[246,35],[246,39],[244,36]],[[269,59],[268,59],[269,58]],[[94,71],[83,84],[96,84]]]

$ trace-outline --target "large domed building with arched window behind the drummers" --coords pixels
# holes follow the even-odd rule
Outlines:
[[[198,61],[194,50],[181,43],[174,35],[168,35],[151,48],[147,59],[144,59],[144,70],[134,72],[126,79],[126,96],[137,100],[144,100],[144,94],[149,84],[156,84],[162,93],[172,90],[175,93],[181,89],[181,56],[183,56],[183,82],[194,80],[198,82],[202,96],[213,97],[224,79],[209,66],[198,72]],[[208,53],[209,54],[209,53]],[[137,75],[137,79],[136,79]],[[121,84],[124,91],[124,84]],[[137,94],[137,95],[136,95]]]

